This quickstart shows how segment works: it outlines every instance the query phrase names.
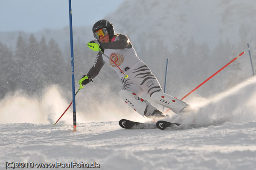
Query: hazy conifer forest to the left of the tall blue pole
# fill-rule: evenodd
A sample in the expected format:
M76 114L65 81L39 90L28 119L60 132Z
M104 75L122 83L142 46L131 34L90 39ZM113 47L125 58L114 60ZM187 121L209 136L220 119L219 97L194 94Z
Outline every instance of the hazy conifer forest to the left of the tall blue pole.
M47 84L61 83L67 75L63 52L54 39L46 42L44 36L38 41L33 34L28 40L20 35L15 51L0 42L0 58L1 99L6 92L17 89L28 94L40 92Z

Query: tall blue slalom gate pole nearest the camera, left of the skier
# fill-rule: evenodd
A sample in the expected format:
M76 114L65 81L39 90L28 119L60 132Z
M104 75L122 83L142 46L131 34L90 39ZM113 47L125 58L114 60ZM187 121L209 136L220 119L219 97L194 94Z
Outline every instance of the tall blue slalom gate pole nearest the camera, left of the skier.
M73 127L74 127L74 132L76 132L76 93L75 93L75 71L74 71L74 51L73 51L73 29L72 29L71 0L69 0L69 15L70 15L71 73L72 73L72 92L73 92Z

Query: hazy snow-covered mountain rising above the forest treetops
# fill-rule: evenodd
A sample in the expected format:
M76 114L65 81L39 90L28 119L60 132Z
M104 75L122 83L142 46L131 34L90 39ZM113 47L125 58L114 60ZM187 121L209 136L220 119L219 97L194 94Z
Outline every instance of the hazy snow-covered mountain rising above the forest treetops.
M248 42L255 46L255 14L254 0L125 0L106 19L113 23L116 32L131 37L137 49L142 44L150 48L159 40L175 49L176 44L186 45L191 39L199 44L207 43L213 49L220 41L227 40L235 44ZM91 40L91 27L74 27L74 41L79 37L85 43ZM2 43L14 47L19 33L27 37L30 34L26 30L0 32ZM69 44L69 26L35 33L38 38L42 35L47 40L53 37L63 48Z

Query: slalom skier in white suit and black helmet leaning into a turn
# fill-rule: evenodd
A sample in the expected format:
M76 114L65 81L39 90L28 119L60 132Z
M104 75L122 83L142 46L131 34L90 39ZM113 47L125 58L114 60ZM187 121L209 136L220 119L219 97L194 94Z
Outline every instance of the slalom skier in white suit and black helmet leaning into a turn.
M88 46L91 49L98 47L101 52L98 52L96 61L87 75L82 76L80 86L93 81L102 66L107 63L121 79L123 86L119 95L140 115L148 118L165 117L150 102L140 98L144 93L150 96L153 103L167 107L175 113L188 106L185 102L163 93L157 78L138 58L130 38L122 34L115 35L113 25L108 20L97 21L93 25L93 35L97 40L90 41Z

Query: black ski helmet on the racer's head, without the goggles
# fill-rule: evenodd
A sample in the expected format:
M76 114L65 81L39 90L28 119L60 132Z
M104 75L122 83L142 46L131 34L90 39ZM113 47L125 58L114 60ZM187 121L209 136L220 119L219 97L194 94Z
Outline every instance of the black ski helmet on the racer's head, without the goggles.
M93 25L93 33L98 31L99 29L106 28L108 31L109 39L112 39L115 35L115 30L111 22L109 20L99 20Z

